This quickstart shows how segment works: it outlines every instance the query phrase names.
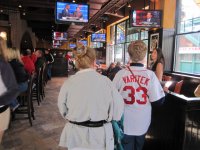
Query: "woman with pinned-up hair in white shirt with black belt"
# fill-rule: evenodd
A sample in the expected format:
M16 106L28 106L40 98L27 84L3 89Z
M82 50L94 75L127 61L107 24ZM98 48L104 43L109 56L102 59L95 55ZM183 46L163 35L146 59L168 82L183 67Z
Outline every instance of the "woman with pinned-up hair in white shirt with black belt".
M113 150L111 120L120 120L124 104L113 83L94 69L95 50L75 50L76 68L61 87L58 107L66 123L60 146L80 150Z

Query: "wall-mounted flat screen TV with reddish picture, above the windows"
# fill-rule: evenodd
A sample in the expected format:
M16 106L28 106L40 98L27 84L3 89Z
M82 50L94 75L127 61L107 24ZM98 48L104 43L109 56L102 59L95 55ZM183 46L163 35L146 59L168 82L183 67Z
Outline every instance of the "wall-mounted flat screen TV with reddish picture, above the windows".
M130 27L161 27L162 12L160 10L132 10Z

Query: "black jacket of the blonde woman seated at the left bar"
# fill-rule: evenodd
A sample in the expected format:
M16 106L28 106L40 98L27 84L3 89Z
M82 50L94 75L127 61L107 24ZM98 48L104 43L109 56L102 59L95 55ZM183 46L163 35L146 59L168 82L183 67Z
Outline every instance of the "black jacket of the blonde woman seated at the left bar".
M28 80L29 75L25 71L24 65L20 63L18 60L13 59L10 62L11 67L13 68L13 71L15 73L15 77L17 80L17 83L22 83Z

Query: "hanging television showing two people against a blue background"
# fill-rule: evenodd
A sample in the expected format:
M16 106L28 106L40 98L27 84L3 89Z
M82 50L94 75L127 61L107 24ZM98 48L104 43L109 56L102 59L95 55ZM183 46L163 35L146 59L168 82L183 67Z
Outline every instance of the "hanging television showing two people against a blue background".
M56 22L88 22L89 5L68 2L56 2Z

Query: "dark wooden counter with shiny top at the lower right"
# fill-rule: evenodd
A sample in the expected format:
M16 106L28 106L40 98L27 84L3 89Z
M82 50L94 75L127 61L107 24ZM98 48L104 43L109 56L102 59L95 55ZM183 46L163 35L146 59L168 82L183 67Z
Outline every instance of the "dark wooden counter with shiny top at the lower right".
M170 92L153 106L144 150L200 150L200 97Z

